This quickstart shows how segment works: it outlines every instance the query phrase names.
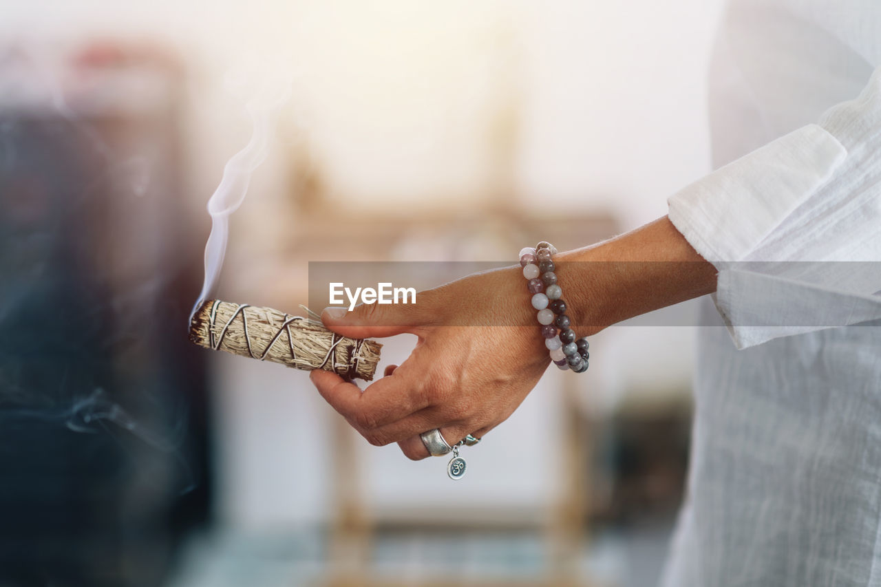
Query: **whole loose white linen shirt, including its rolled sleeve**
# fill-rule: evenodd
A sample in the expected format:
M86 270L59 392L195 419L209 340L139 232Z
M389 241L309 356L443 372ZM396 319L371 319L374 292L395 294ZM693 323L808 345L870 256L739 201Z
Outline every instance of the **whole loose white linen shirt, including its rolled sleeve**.
M669 202L719 270L720 326L700 328L668 587L881 585L879 65L881 0L726 11L724 165Z

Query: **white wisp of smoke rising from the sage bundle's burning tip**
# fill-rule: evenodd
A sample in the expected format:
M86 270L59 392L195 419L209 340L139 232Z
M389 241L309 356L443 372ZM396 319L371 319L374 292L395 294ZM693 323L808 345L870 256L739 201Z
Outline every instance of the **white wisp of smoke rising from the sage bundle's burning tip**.
M254 123L251 140L240 152L226 162L223 178L208 200L211 214L211 234L205 244L205 279L202 292L190 313L190 320L202 303L211 296L220 277L220 268L226 256L229 238L229 216L241 206L248 193L251 174L269 155L272 122L278 109L291 95L291 80L267 78L263 80L255 97L248 101L246 109Z

